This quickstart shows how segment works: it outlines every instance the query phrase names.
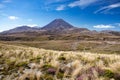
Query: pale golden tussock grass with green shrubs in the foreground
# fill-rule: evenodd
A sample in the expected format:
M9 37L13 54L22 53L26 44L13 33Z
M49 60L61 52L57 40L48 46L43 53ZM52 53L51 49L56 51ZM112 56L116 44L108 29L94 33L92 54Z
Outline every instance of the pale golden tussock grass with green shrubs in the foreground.
M0 43L0 80L120 80L120 55Z

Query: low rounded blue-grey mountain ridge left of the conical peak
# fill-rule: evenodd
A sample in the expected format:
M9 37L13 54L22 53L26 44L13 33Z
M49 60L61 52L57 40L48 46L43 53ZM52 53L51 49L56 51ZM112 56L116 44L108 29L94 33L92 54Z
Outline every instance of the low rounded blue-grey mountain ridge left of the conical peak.
M39 28L29 27L29 26L19 26L14 29L4 31L4 32L2 32L2 34L19 33L19 32L36 31L36 30L39 30Z

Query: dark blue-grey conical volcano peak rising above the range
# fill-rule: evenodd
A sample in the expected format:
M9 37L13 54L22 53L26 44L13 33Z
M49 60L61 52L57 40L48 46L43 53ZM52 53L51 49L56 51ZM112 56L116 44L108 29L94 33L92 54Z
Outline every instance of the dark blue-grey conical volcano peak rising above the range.
M45 30L64 30L64 29L70 29L74 28L71 24L64 21L63 19L55 19L48 25L44 26L42 29Z

